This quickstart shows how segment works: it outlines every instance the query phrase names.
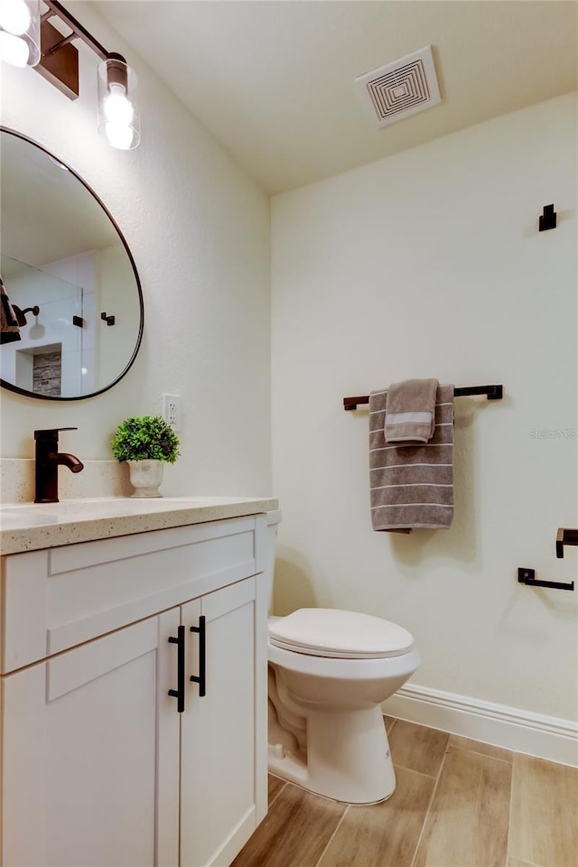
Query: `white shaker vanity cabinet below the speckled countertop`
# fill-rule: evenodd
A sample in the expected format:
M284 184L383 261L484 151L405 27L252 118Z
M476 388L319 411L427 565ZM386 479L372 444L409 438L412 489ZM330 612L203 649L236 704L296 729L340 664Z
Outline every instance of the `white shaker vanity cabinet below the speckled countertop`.
M233 861L266 815L265 533L3 558L3 867Z

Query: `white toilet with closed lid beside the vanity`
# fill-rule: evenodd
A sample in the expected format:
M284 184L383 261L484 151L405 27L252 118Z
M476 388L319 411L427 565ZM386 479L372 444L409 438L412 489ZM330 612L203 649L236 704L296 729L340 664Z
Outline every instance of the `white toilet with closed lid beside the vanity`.
M280 514L269 519L272 591ZM268 633L271 773L349 804L390 797L396 777L380 704L420 664L410 633L368 614L314 608L270 617Z

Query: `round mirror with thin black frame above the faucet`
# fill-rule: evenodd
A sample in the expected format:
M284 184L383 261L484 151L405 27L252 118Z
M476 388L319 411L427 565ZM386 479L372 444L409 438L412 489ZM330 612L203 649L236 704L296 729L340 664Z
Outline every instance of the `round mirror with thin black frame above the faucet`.
M133 256L70 166L0 127L1 384L81 400L125 376L143 335Z

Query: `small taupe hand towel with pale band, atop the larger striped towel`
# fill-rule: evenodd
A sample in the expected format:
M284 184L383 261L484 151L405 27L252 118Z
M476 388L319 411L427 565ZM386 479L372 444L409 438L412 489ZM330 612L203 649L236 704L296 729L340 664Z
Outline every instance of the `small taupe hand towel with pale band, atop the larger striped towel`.
M406 379L387 389L386 442L427 443L435 429L437 379Z

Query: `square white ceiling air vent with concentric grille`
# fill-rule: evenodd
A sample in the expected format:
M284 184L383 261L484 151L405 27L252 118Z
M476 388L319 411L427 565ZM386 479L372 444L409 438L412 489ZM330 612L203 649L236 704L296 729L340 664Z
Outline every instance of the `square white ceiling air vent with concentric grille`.
M431 45L355 79L359 98L378 126L436 106L442 101Z

